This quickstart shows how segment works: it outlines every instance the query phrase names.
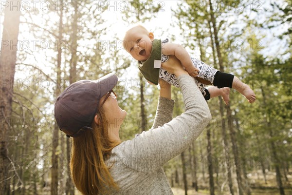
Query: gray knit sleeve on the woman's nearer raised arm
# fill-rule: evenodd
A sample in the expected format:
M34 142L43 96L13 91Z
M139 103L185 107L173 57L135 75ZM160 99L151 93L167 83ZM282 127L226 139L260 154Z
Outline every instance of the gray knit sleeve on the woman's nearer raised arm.
M168 160L182 153L211 120L208 105L194 78L182 75L178 80L183 93L185 112L164 124L163 128L143 132L116 147L115 152L125 159L130 168L146 173L157 170ZM159 115L160 111L157 111L157 114ZM162 123L162 120L154 121L154 127Z

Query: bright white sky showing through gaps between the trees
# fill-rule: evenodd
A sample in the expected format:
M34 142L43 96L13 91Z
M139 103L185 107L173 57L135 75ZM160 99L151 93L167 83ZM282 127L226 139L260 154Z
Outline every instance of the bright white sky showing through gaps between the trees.
M23 0L23 2L30 2L28 0ZM174 35L176 37L175 41L176 43L183 43L183 36L182 36L182 32L183 29L179 29L177 27L173 27L171 26L171 24L174 22L172 20L172 11L171 9L176 9L177 8L177 4L180 0L155 0L154 1L154 6L158 3L162 3L161 5L161 11L158 12L157 17L151 21L146 21L143 23L143 25L149 29L149 31L152 31L154 33L155 37L158 37L160 39L164 39L167 37L170 37L171 35ZM277 0L278 2L281 0ZM7 2L5 0L0 0L0 39L2 39L2 30L3 30L3 2ZM11 1L9 1L11 2ZM40 2L40 1L39 1ZM101 3L105 2L105 1L99 1ZM111 1L111 3L113 2L113 0ZM114 1L116 2L115 5L111 6L109 8L109 10L107 10L105 12L105 16L104 18L107 20L107 22L104 24L106 26L109 26L109 29L107 31L107 33L104 35L104 37L102 37L101 39L104 40L112 40L112 39L119 39L122 40L124 38L125 32L128 30L129 26L128 23L126 23L125 21L123 21L121 19L121 14L123 14L123 9L122 4L118 4L118 2L122 2L120 1ZM128 1L124 1L124 2L128 2ZM263 20L269 20L269 16L267 13L265 13L264 9L268 8L271 9L271 7L269 6L269 2L267 0L258 0L256 2L260 2L261 4L260 7L257 7L259 9L262 9L262 11L258 12L258 15L256 14L251 14L249 15L250 19L255 19L258 21L263 21ZM283 2L283 1L281 1ZM102 5L102 4L101 4ZM129 3L127 4L127 9L131 9L129 6ZM119 11L118 11L119 10ZM25 11L24 11L25 12ZM23 10L22 10L23 13ZM46 12L45 12L46 13ZM46 15L44 14L44 17L50 18L51 20L56 20L58 21L58 17L56 16L55 18L52 17L51 15ZM21 19L23 20L23 19ZM38 23L39 25L42 24L42 18L40 17L34 17L33 22ZM85 19L86 20L86 19ZM240 20L238 18L230 18L229 20ZM88 25L95 25L95 24L88 24ZM284 30L288 29L289 26L281 26L281 27L276 27L273 29L254 29L254 32L258 35L264 35L265 37L260 37L258 39L260 39L262 46L265 47L264 50L261 50L260 52L269 58L275 58L275 57L283 57L281 56L281 53L283 53L283 51L286 49L284 47L284 44L286 43L285 40L279 40L276 38L277 35L281 34ZM51 30L51 29L50 29ZM226 32L226 34L228 34ZM117 38L116 38L117 37ZM20 25L20 29L19 29L19 36L18 39L20 41L25 41L25 40L34 40L34 35L32 35L29 31L29 29L25 28L25 25ZM48 38L49 39L49 38ZM37 40L38 43L44 40ZM82 42L83 44L87 45L90 43L87 43L83 40L79 40L80 42ZM247 42L245 42L247 43ZM1 44L1 42L0 42ZM248 44L246 44L248 45ZM25 44L22 44L21 47L24 47ZM33 47L31 45L31 47ZM51 47L53 47L51 45ZM123 48L118 48L118 49L123 49ZM199 51L188 51L192 56L195 56L198 58ZM19 52L18 52L19 53ZM54 60L56 58L56 52L52 53L52 50L40 50L36 52L33 50L33 48L30 48L30 50L27 51L28 54L32 54L32 55L27 55L27 59L25 60L26 63L28 64L33 64L36 65L37 67L39 67L40 69L42 69L46 74L50 74L50 73L54 73L54 68L55 68L55 64L54 64ZM125 57L128 57L129 59L132 59L132 57L126 52L126 51L122 51L122 54L125 55ZM291 55L291 54L288 54ZM47 59L46 56L51 56L51 58L53 59ZM50 58L50 57L49 57ZM19 61L19 59L18 59ZM130 78L137 78L137 74L138 74L138 68L135 66L136 65L136 61L133 59L132 60L133 65L129 66L126 71L124 72L124 74L119 78L119 79L130 79ZM48 65L49 63L49 65ZM83 62L79 62L79 63L83 63ZM212 66L212 64L210 64ZM64 66L64 63L62 63L62 66ZM21 70L16 72L15 74L15 79L19 79L24 80L24 79L28 79L30 80L31 77L35 77L35 76L31 76L30 73L28 73L28 71L26 70L27 67L23 67L21 68ZM37 77L37 76L36 76ZM43 87L46 86L47 82L42 82L39 83L41 84ZM138 82L137 82L138 83ZM136 83L136 84L137 84ZM24 83L25 84L25 83ZM50 83L50 87L55 87L55 83ZM138 84L137 84L138 85ZM50 88L50 89L51 89ZM133 90L131 90L133 91ZM50 90L50 92L52 92L52 90ZM133 92L134 93L134 92ZM53 93L51 93L52 96L50 96L50 98L54 99ZM47 114L49 113L53 113L53 109L54 109L54 105L50 105L50 103L48 102L46 105L47 109L46 112Z

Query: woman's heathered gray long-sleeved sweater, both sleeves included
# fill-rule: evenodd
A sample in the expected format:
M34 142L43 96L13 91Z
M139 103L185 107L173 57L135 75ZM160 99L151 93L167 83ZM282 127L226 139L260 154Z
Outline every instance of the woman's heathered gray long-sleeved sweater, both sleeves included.
M183 93L185 112L172 119L174 101L159 98L153 127L132 140L116 146L106 161L119 191L108 189L110 195L172 195L163 171L164 164L182 153L196 139L211 113L194 78L178 78Z

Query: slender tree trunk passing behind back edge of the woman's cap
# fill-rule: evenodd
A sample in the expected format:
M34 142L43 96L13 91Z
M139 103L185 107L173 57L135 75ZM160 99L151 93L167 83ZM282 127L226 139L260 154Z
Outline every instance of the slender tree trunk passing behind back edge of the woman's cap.
M62 1L60 2L62 4ZM62 48L61 48L61 40L63 33L63 11L60 11L60 19L59 19L59 36L58 36L58 55L57 55L57 79L56 79L56 89L55 89L55 97L57 97L61 90L61 58L62 58ZM52 168L51 168L51 194L58 194L58 155L56 154L56 150L58 147L59 140L59 128L57 126L54 127L53 132L53 143L52 143Z

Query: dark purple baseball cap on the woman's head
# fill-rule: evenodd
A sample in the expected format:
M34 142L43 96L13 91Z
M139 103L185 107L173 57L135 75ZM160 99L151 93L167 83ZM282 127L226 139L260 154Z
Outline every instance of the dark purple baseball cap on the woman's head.
M67 87L56 99L55 119L67 137L78 137L91 128L100 98L118 82L110 73L98 80L79 80Z

